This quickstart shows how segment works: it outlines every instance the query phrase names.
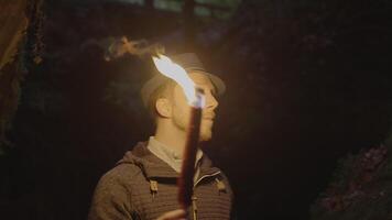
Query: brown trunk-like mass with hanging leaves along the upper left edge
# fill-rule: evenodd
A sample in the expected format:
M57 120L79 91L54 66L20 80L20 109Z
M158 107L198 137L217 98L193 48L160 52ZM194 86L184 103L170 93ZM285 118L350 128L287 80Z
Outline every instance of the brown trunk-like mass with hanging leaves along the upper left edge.
M6 21L0 37L0 148L10 145L6 132L18 109L20 85L29 64L41 62L42 0L2 2L0 18ZM30 21L30 26L28 26ZM25 37L25 34L28 37Z

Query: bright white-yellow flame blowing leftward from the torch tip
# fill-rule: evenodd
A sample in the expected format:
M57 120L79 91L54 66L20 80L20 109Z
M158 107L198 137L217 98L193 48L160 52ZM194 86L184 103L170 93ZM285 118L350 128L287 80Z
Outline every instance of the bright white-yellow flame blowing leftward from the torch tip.
M196 85L190 79L186 70L178 64L172 62L165 55L157 54L152 57L156 69L164 76L176 81L184 90L185 97L188 103L193 107L203 108L205 106L205 99L203 95L196 92Z

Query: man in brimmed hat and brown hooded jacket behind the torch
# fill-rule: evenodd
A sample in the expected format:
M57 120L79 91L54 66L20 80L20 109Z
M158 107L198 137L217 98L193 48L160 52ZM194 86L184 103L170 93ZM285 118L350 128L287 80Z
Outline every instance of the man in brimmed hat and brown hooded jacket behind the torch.
M216 95L225 84L207 73L195 54L172 58L204 89L200 141L213 136ZM139 143L98 183L89 220L115 219L229 219L232 191L222 172L198 150L195 164L193 205L179 209L176 180L182 165L190 108L182 88L156 74L142 88L144 106L156 130L146 143Z

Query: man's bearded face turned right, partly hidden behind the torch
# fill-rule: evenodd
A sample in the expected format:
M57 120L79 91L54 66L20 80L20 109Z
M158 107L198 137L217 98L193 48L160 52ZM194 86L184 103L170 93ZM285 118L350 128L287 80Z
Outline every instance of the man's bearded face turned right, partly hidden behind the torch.
M218 101L215 99L215 87L207 76L200 73L190 73L189 77L194 82L204 90L206 106L203 109L200 124L200 141L208 141L213 138L213 124L215 118L215 109L218 107ZM190 107L186 100L183 89L176 85L173 91L172 100L172 122L175 127L186 131L189 122Z

